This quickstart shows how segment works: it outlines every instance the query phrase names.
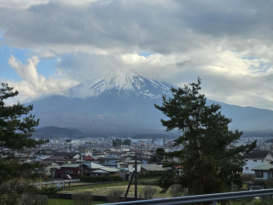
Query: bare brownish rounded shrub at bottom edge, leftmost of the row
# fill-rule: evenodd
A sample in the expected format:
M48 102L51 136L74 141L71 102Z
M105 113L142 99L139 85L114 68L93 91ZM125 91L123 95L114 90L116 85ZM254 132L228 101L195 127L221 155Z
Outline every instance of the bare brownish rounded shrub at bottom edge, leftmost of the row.
M46 205L48 197L42 194L23 194L18 199L18 205Z

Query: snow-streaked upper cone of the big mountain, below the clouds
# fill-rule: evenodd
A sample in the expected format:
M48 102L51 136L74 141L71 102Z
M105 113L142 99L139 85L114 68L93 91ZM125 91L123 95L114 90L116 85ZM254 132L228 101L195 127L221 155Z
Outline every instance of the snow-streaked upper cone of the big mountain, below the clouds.
M143 96L145 100L171 94L170 88L178 86L151 80L133 71L102 73L85 83L70 88L72 98L97 98L99 95L116 94L129 98Z

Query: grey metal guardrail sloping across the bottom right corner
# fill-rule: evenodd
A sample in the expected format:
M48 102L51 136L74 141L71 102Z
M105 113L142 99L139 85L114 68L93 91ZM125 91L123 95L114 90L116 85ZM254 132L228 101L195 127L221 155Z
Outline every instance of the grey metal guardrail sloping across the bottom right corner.
M219 194L206 194L206 195L195 195L186 197L173 197L173 198L161 198L161 199L150 199L141 201L127 201L118 203L107 203L101 205L176 205L176 204L190 204L205 201L213 201L216 205L216 201L227 200L227 199L238 199L238 198L248 198L248 197L260 197L273 195L273 189L261 189L254 191L241 191L241 192L227 192Z

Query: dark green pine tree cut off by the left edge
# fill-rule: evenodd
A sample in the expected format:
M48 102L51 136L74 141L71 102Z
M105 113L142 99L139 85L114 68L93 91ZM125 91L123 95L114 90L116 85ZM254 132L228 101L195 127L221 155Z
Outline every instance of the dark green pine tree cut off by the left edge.
M33 109L32 105L25 107L17 102L12 106L6 106L4 100L18 95L13 92L13 87L1 83L0 88L0 148L22 150L22 148L35 147L38 142L29 138L34 132L34 127L39 124L32 115L21 119L21 116L28 115Z

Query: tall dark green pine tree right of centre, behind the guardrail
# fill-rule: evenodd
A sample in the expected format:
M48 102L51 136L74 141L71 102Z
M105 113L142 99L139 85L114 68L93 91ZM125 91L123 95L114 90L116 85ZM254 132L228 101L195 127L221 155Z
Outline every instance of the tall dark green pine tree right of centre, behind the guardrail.
M179 172L170 171L162 175L160 182L163 191L172 184L188 188L189 195L212 194L229 191L231 182L240 183L244 160L242 153L256 147L231 145L242 132L228 129L232 119L221 114L218 104L206 105L206 97L200 93L201 80L190 86L174 89L173 98L162 96L162 106L155 107L169 119L161 119L167 131L176 129L181 135L174 140L174 146L181 145L180 151L168 153L177 157L179 163L165 166L179 167Z

